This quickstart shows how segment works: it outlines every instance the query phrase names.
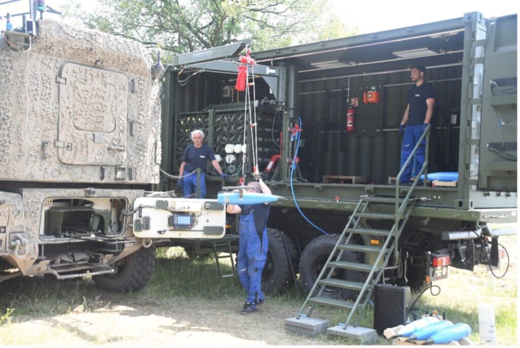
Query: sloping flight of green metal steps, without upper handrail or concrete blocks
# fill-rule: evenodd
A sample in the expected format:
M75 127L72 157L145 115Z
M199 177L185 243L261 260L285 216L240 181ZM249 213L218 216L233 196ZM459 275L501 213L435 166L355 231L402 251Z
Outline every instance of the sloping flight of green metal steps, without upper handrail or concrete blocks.
M349 323L353 323L353 326L359 324L359 320L369 303L374 286L381 279L383 271L395 269L397 267L396 265L388 265L393 252L397 255L395 240L399 238L400 233L404 229L404 226L410 217L412 208L419 200L418 198L410 197L410 194L411 190L405 198L398 198L397 200L395 197L361 197L334 249L332 250L329 259L316 279L316 283L302 305L296 319L299 319L302 315L309 317L316 308L316 305L326 305L339 307L349 311L348 317L344 324L342 324L345 329ZM374 210L378 210L373 209L374 207L386 205L388 208L389 204L395 205L396 209L394 214L374 212ZM363 226L362 219L394 220L394 225L391 230L376 230ZM381 246L363 246L354 244L352 242L355 240L353 237L356 234L379 239L383 237L384 243L382 243ZM339 252L337 253L337 256L335 256L337 251ZM344 252L363 252L366 256L375 253L377 254L377 257L372 265L347 262L342 260ZM394 260L397 260L397 258ZM365 283L361 283L332 278L331 276L336 268L366 273L366 281ZM327 269L329 269L329 271L327 271ZM325 287L350 289L358 292L358 294L355 301L332 299L322 295Z

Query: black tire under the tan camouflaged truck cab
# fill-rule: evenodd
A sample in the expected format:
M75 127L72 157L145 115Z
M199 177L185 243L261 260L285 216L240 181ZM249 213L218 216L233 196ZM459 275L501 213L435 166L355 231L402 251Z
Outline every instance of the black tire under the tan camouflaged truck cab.
M140 248L116 262L114 274L95 275L96 286L113 292L138 291L142 289L155 268L155 245ZM112 265L114 267L114 265Z

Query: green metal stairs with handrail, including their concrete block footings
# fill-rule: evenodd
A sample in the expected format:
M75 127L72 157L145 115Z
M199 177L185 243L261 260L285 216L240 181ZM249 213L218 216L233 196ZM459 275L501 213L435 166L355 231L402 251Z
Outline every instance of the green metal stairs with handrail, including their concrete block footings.
M328 328L327 332L331 330L331 334L345 336L347 327L352 322L352 327L355 328L352 334L355 337L361 338L363 335L365 335L368 331L371 330L359 328L357 326L363 315L363 312L365 312L367 304L370 301L372 291L375 285L378 284L379 280L381 279L383 272L385 270L392 270L398 267L397 260L399 259L399 236L410 217L410 213L412 212L413 207L419 200L426 200L426 198L418 198L411 196L413 190L415 189L415 186L417 186L420 180L415 180L410 186L410 188L408 190L405 190L405 197L400 197L401 191L399 189L399 185L400 179L405 169L409 165L411 165L411 160L415 156L415 153L417 153L420 146L425 144L426 149L424 163L417 175L417 178L421 178L421 176L424 174L424 178L426 178L426 180L423 180L422 184L426 186L428 174L428 148L430 143L430 132L431 126L428 125L425 131L422 133L419 140L417 141L417 144L415 144L415 147L408 156L406 162L401 166L401 170L399 171L396 178L394 196L360 196L361 199L359 200L356 208L354 209L352 216L350 216L350 218L348 219L348 222L345 228L343 229L340 238L337 240L336 245L334 246L329 258L327 259L327 262L325 263L323 269L318 275L316 282L313 285L313 288L310 290L307 299L305 300L304 304L300 309L300 312L296 317L286 319L286 327L296 327L296 329L291 330L294 332L298 332L297 328L298 326L302 327L302 324L297 322L301 322L301 317L305 316L308 320L306 320L307 323L303 326L305 330L307 330L304 330L304 332L310 332L311 334L320 332L322 328L328 325L328 323L330 322L328 320L311 320L310 315L313 313L317 305L327 305L332 307L340 307L342 309L348 310L349 312L345 320L345 323L342 323L338 326L341 327L341 329L338 329L337 327ZM388 211L391 211L392 206L394 206L393 214L388 213ZM375 230L370 228L370 226L363 225L364 221L366 222L367 220L394 220L394 225L390 230ZM353 239L354 235L369 236L370 240L377 240L378 238L384 239L384 243L382 243L381 246L358 245L355 243L351 243L355 241L355 239ZM337 251L339 252L336 256ZM370 256L371 254L373 256L373 254L375 253L377 256L372 264L361 264L343 261L342 256L344 252L363 252L366 256ZM393 258L392 255L394 256ZM388 263L390 260L393 260L393 263L395 264L389 265ZM365 280L365 283L332 278L332 274L334 274L334 270L336 268L366 273L367 278ZM327 271L327 269L329 269L329 271ZM323 289L325 289L326 287L353 290L357 292L356 300L344 301L324 296ZM372 333L375 334L375 331L372 331ZM299 330L299 332L302 332L302 330Z

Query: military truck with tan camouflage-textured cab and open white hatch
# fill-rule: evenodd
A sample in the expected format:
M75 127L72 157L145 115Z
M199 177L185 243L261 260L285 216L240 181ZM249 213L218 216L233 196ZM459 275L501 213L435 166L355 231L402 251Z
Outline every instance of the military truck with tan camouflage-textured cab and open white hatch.
M149 191L164 68L143 45L28 20L2 35L0 67L0 282L92 276L138 290L155 243L224 235L216 200Z

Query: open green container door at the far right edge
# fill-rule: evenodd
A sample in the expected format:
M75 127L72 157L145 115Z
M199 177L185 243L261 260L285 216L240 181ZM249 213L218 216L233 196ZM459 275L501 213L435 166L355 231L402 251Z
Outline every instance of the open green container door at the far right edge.
M487 23L478 187L516 191L517 16Z

